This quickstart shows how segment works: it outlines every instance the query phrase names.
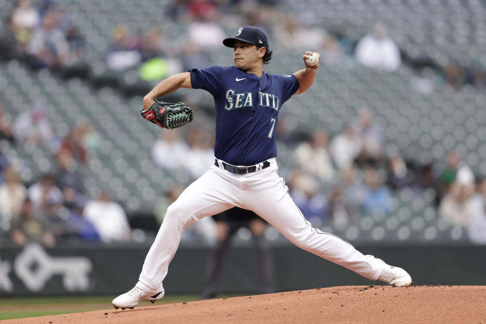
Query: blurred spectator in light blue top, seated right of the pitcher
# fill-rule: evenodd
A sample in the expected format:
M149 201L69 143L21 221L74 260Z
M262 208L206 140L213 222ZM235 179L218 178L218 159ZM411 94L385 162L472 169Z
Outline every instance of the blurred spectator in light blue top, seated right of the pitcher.
M361 209L366 215L382 214L391 212L391 194L380 179L375 169L365 171L365 191Z

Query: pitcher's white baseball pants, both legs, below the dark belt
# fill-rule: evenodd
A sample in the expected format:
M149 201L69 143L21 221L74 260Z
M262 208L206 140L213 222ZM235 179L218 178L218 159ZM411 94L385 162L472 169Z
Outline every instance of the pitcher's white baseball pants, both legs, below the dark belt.
M244 175L213 165L189 185L167 209L136 286L150 293L163 291L162 281L186 225L233 206L254 211L299 248L369 279L378 279L384 263L363 255L335 235L313 228L289 195L284 179L278 176L275 158L268 161L270 167Z

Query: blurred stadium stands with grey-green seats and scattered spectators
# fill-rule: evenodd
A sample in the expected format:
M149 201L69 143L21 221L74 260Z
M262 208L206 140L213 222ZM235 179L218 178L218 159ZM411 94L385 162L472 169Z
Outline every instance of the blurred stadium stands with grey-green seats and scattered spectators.
M408 34L406 1L401 20L378 10L382 21L335 1L321 16L297 11L310 0L135 3L0 0L2 244L153 239L214 161L214 105L174 94L194 123L159 132L138 116L141 96L173 73L231 65L222 39L241 25L269 35L267 72L300 69L306 50L322 56L277 128L280 174L315 227L350 241L486 244L486 29L472 17L484 4L422 4L439 30ZM282 239L271 227L266 237ZM214 240L211 218L183 236Z

